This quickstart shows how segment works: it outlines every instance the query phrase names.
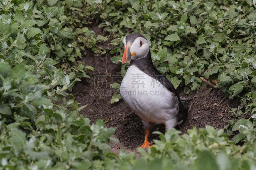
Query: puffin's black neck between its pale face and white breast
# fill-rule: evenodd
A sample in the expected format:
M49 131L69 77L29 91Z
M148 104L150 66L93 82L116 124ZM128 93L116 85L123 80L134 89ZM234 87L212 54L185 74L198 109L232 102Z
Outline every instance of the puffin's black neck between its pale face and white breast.
M153 72L158 72L158 70L156 69L152 62L150 50L148 51L148 54L145 57L140 58L138 60L131 60L129 67L132 65L138 67L138 69L140 69L144 73L147 73L148 75L153 74Z

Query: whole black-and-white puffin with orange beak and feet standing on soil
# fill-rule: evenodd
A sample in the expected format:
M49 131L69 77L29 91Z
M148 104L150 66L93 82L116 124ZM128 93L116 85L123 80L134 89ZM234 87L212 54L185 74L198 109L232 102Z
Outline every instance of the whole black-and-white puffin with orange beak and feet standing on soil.
M122 64L130 65L122 80L120 94L125 103L143 122L146 131L140 148L152 147L149 131L155 124L163 123L165 130L180 125L188 116L190 98L182 98L172 83L154 66L147 39L133 33L124 37Z

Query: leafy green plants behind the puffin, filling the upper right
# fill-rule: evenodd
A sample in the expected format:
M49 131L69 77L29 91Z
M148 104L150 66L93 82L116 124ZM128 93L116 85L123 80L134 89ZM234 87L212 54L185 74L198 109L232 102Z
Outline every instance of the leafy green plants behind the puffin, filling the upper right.
M231 99L243 90L255 92L255 4L251 1L87 2L88 15L100 17L100 27L114 34L111 54L122 56L126 32L143 34L157 69L167 74L175 88L185 85L185 94L200 87L202 76L217 79L217 87ZM111 60L120 63L120 59ZM126 69L127 64L121 72ZM239 96L242 108L253 113L248 95Z

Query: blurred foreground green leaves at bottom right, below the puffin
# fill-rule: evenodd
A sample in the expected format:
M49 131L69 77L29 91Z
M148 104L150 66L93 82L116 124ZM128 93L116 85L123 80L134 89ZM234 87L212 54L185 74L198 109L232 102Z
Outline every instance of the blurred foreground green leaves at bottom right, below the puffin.
M255 121L244 129L244 145L230 141L223 129L206 126L194 127L188 134L170 129L159 134L154 147L146 153L138 148L143 157L136 160L134 153L120 151L119 159L111 162L115 169L250 169L255 167ZM241 154L243 153L243 154ZM106 163L106 166L108 167Z

